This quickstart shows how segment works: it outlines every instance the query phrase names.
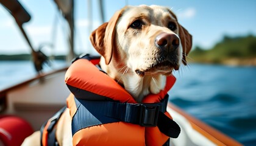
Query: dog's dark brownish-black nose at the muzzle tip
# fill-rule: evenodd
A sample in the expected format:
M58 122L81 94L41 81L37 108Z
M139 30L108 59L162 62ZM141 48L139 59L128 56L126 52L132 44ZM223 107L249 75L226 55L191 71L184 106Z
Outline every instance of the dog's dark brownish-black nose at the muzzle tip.
M174 33L160 33L155 38L155 44L163 49L175 50L179 47L180 40L179 37Z

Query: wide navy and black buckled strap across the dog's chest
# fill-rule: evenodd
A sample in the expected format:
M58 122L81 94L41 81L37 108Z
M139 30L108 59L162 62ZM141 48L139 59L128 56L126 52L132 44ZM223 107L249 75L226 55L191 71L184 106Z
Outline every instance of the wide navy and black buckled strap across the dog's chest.
M159 130L169 137L177 137L180 133L179 125L164 114L168 103L168 94L160 103L144 104L74 99L77 111L72 120L73 135L82 128L119 121L143 127L158 126L161 127ZM168 119L167 122L163 122L166 119ZM166 130L166 128L169 129Z

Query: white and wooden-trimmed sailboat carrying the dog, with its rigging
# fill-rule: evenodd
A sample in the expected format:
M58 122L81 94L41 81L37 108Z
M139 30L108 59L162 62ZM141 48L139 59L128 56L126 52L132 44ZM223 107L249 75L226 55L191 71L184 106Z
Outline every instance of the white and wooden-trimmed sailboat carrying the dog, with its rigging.
M62 1L55 2L58 4ZM70 2L69 4L74 5L72 3L74 1ZM20 8L19 16L24 19L18 20L17 24L21 32L23 32L27 43L30 44L29 38L27 38L26 32L22 28L22 24L29 21L29 14L17 0L0 0L0 3L6 4L7 7L16 5L16 7ZM59 9L62 8L59 7ZM15 18L16 14L12 13L12 15ZM74 21L73 10L69 11L65 16L69 21L71 28L70 35L72 36L74 27L72 23L72 21ZM72 37L70 42L70 51L73 52L72 46L74 41ZM43 61L37 60L38 52L34 50L31 44L29 46L32 49L33 57L35 57L35 68L37 68L39 73L29 80L0 91L0 145L21 145L24 138L32 134L32 132L40 130L41 125L43 125L46 120L52 117L63 106L66 106L66 97L70 94L64 81L67 68L65 67L47 73L41 72L42 63L46 61L44 55ZM39 56L42 56L40 52ZM74 57L73 53L71 57ZM36 63L38 61L40 62L39 65ZM167 111L181 127L180 136L177 139L171 139L170 145L242 145L235 141L235 139L232 139L201 120L185 113L185 111L170 102L168 103ZM8 119L12 117L18 119L16 120L16 124L12 123L6 125ZM19 123L17 121L22 122ZM24 131L20 133L20 125L27 127L27 130L24 130L28 131L26 134L24 134Z

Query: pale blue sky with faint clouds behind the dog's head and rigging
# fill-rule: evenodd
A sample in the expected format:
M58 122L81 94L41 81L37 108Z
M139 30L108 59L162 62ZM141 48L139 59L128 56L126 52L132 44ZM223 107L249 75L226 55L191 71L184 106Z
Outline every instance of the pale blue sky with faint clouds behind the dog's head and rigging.
M53 0L20 0L32 19L24 24L32 45L44 45L46 54L66 54L68 27ZM75 51L93 53L90 32L102 24L98 1L75 0ZM125 0L104 1L105 21L125 5L164 5L176 13L179 23L193 35L193 47L210 49L224 35L256 35L256 1L254 0ZM88 7L88 5L90 5ZM91 18L88 10L91 9ZM90 23L89 23L90 22ZM92 28L92 29L90 29ZM49 45L51 44L51 45ZM29 46L15 24L15 20L0 5L0 54L29 53Z

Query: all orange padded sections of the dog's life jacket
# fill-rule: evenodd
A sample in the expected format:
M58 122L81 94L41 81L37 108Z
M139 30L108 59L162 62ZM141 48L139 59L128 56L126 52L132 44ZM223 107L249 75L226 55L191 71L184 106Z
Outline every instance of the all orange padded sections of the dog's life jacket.
M67 99L71 117L76 114L77 106L75 98L85 100L93 99L90 95L98 94L105 97L103 100L115 100L121 103L137 103L133 97L112 78L99 71L89 60L80 59L75 61L65 75L68 88L74 94ZM167 77L165 89L158 94L150 94L144 97L144 103L158 103L163 100L174 85L176 78ZM84 95L81 92L86 93ZM89 94L88 94L89 93ZM89 97L86 97L89 95ZM97 97L96 97L97 98ZM171 116L165 112L165 115ZM90 119L88 119L90 120ZM82 128L73 135L73 145L163 145L169 137L161 133L158 127L141 127L140 125L127 122L113 122L102 125L94 125Z

